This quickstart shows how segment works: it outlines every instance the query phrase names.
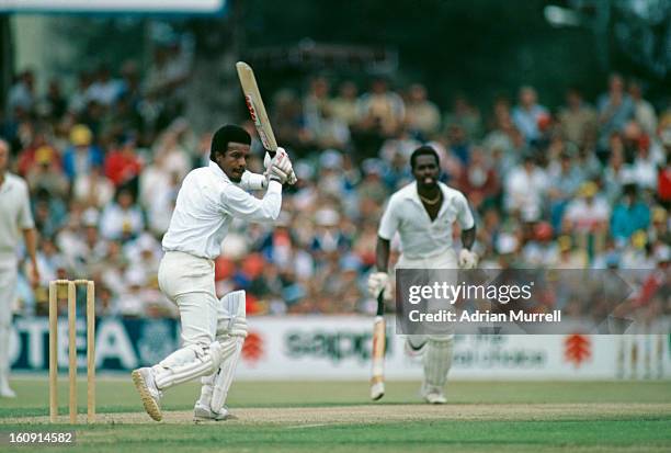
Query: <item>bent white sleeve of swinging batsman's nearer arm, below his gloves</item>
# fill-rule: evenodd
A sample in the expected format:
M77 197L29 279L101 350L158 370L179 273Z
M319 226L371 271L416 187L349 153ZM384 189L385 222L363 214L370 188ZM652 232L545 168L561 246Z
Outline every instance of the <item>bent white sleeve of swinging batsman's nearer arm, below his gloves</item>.
M276 220L282 208L282 184L271 181L263 199L229 184L221 193L223 208L230 215L250 222Z

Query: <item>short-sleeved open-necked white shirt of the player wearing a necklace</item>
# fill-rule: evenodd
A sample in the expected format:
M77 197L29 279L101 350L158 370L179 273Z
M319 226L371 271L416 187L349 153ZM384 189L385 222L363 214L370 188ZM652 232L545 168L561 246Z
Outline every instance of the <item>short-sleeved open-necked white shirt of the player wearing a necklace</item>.
M389 199L379 222L377 235L387 240L398 231L403 257L422 259L445 253L452 248L452 224L458 222L463 229L475 225L466 196L455 189L439 182L443 192L443 204L432 222L412 182Z

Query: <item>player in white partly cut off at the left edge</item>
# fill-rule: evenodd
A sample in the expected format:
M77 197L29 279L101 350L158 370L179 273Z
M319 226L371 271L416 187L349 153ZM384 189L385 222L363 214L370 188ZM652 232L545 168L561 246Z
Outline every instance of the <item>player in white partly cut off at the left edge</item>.
M16 251L20 236L31 260L30 280L39 282L35 248L37 237L31 214L31 200L24 180L8 171L9 145L0 138L0 397L16 395L9 385L9 339L12 327L12 305L16 297Z

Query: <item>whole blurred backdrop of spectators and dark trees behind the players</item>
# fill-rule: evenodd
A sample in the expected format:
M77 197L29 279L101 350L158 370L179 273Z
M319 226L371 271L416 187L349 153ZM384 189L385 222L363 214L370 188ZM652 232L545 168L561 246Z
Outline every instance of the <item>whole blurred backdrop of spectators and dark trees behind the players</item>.
M276 225L237 222L223 246L217 292L247 290L248 313L374 312L378 222L421 144L468 197L481 267L616 269L671 312L668 2L220 3L0 13L0 137L39 236L16 313L90 278L99 315L177 315L157 269L180 183L219 125L255 136L238 59L299 179ZM254 139L249 169L262 159Z

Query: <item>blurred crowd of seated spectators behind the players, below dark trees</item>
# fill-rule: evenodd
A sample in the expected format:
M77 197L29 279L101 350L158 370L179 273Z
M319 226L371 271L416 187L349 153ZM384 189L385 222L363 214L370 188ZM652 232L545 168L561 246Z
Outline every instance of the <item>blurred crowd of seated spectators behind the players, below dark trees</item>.
M157 285L160 240L211 137L183 116L189 65L167 46L146 75L132 61L118 73L101 66L69 93L56 79L38 92L36 76L16 76L0 116L39 236L42 282L33 290L22 272L19 313L46 312L50 280L89 278L99 315L175 316ZM382 209L428 143L443 181L470 202L482 267L637 270L640 297L670 309L660 274L671 256L671 109L640 82L612 75L594 103L569 88L557 110L523 86L484 113L464 94L439 106L419 83L332 82L317 76L304 92L269 95L298 183L276 225L231 226L216 262L220 295L247 290L252 314L369 313ZM249 168L262 172L253 149Z

